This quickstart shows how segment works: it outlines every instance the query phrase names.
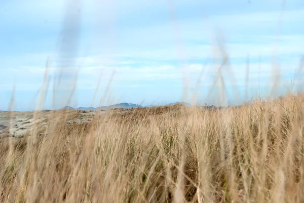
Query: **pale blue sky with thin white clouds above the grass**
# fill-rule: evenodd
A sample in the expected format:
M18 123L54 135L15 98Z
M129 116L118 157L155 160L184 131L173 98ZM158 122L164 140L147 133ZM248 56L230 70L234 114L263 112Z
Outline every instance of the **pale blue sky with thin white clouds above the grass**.
M4 0L0 19L0 110L239 104L302 85L302 0Z

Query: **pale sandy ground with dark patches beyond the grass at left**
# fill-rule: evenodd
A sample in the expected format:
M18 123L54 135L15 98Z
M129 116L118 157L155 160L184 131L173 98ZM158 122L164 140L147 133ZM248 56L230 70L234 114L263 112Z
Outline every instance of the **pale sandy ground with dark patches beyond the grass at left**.
M8 112L0 111L0 138L4 137L20 137L26 134L34 127L43 128L48 124L54 111L40 112ZM72 123L89 123L92 121L95 111L72 111L69 113L66 121L67 124ZM104 111L99 112L103 114ZM52 119L54 119L52 117Z

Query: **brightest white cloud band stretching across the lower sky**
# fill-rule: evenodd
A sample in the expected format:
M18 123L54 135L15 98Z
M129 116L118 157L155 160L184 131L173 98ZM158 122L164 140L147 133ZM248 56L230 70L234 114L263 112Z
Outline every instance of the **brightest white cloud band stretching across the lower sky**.
M290 69L290 66L296 64L283 63L281 64L281 77L283 80L290 79L293 77L294 70ZM229 69L230 68L230 69ZM58 74L61 68L51 67L49 69L49 74L54 78L54 75ZM65 68L65 73L70 73L71 77L69 80L63 78L64 84L70 84L72 87L74 83L73 78L76 72L75 68ZM101 87L106 87L111 74L115 70L113 76L113 86L130 86L130 87L140 87L144 85L150 85L151 82L161 82L167 81L168 84L173 84L172 82L181 82L183 77L187 77L188 86L197 86L197 81L201 77L201 82L199 86L210 86L213 84L214 78L218 71L218 65L212 64L200 64L192 63L183 70L178 65L155 65L155 66L85 66L82 67L78 72L77 88L78 89L96 89L97 82L101 76ZM74 71L74 72L73 72ZM37 90L43 84L43 77L45 74L45 68L34 67L34 66L24 66L21 68L10 69L7 72L8 75L14 75L17 90ZM186 75L183 75L186 73ZM246 78L246 63L232 64L232 66L224 66L222 68L222 75L224 77L225 83L227 85L244 85ZM254 86L258 83L265 84L272 78L274 73L272 71L271 63L250 63L249 68L249 86ZM7 76L6 76L7 77ZM36 78L36 79L33 79ZM1 90L12 90L12 78L1 79ZM66 81L65 81L66 80ZM39 83L40 82L40 83ZM53 82L51 82L53 83ZM52 85L50 86L52 88Z

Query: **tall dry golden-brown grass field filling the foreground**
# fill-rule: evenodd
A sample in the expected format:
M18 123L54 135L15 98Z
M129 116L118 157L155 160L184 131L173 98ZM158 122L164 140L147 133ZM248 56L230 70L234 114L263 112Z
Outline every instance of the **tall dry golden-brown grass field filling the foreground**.
M2 132L0 201L304 202L303 107L34 112Z

